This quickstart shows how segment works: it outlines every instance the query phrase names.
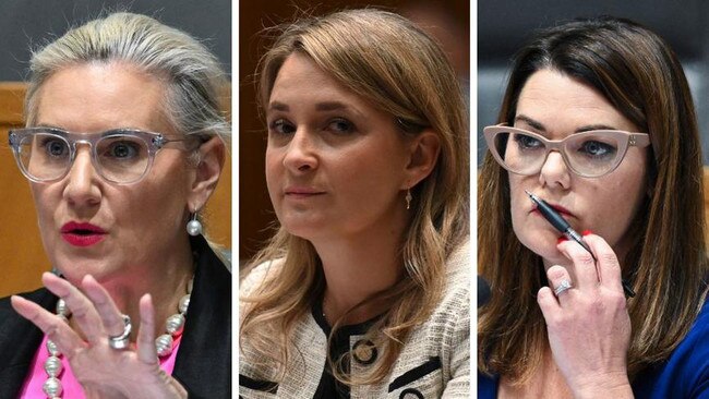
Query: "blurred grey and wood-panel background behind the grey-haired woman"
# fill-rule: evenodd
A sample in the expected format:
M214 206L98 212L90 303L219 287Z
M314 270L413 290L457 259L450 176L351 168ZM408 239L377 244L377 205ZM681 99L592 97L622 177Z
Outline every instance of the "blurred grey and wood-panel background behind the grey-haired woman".
M23 99L29 50L61 36L70 26L123 10L151 15L202 40L231 70L230 0L2 0L0 1L0 297L41 286L47 259L29 184L17 170L8 146L8 130L23 124ZM230 87L224 110L230 112ZM216 243L231 247L231 160L217 192L205 209L207 232Z

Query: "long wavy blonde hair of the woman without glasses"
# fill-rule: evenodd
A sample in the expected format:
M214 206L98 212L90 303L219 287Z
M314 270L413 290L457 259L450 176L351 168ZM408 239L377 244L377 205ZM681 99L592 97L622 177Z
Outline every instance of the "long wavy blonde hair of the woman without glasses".
M388 375L409 331L430 315L444 285L445 262L468 237L467 107L440 46L412 22L390 12L349 10L279 27L259 68L262 110L280 66L292 53L309 57L352 92L390 113L401 134L431 129L441 142L435 168L412 189L413 211L399 249L406 277L359 304L373 300L392 303L366 334L381 355L368 374L357 379L340 367L349 354L328 359L340 382L375 384ZM313 245L283 227L251 267L272 259L283 259L283 265L272 268L266 283L241 298L245 305L240 342L248 341L257 354L274 361L283 378L293 354L293 328L321 299L325 281ZM338 326L339 322L335 323L333 330Z

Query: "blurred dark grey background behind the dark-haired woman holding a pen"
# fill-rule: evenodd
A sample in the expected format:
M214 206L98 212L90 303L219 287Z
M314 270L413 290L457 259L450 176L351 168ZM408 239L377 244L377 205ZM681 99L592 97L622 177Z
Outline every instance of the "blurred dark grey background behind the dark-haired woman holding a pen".
M709 160L709 2L700 0L478 1L478 165L485 152L482 128L497 120L509 61L540 27L579 16L634 20L670 43L685 69L697 107L705 165Z

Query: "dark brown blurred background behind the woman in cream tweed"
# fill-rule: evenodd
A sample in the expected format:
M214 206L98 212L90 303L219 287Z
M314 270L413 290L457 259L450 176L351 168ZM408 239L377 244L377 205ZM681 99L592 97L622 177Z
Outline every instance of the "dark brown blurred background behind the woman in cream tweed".
M375 7L402 14L426 29L442 44L469 92L470 9L468 1L373 2L319 1L240 1L239 4L239 259L251 257L273 234L275 214L271 206L264 174L266 150L265 123L256 107L254 72L269 41L262 32L295 16L321 15L341 9Z

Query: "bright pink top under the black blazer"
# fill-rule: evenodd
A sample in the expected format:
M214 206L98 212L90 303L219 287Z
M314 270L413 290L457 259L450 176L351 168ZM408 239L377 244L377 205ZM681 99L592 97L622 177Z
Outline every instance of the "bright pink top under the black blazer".
M177 358L177 352L180 348L180 341L182 341L182 335L180 334L173 339L172 353L167 358L160 359L160 368L169 375L172 375L172 370L175 368L175 359ZM45 336L39 344L39 349L32 360L29 375L25 379L25 384L22 386L22 390L20 391L21 399L47 399L47 396L41 390L41 386L48 378L47 373L45 372L45 361L47 358L49 358L49 351L47 350L47 336ZM59 359L61 359L61 365L64 370L59 375L62 386L62 395L60 397L84 399L84 390L81 385L79 385L79 382L76 382L74 374L71 372L67 358L60 356Z

